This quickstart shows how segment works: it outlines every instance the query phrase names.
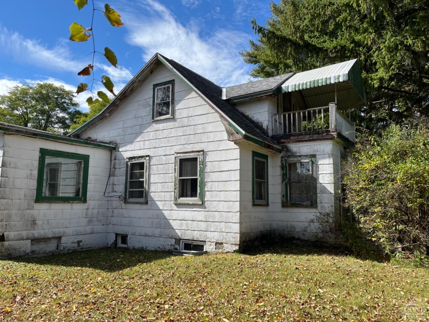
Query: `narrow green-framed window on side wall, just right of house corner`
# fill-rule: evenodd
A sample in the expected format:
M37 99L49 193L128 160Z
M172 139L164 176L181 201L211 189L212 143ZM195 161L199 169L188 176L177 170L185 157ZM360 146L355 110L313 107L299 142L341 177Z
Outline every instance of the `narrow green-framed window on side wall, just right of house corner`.
M268 206L268 155L252 152L252 204Z

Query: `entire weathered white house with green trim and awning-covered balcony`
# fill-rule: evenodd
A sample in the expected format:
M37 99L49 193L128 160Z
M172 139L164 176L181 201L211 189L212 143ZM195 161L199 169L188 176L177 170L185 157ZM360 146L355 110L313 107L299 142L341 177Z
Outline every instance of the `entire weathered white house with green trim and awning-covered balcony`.
M314 240L364 103L356 60L222 88L155 54L68 136L0 124L0 257Z

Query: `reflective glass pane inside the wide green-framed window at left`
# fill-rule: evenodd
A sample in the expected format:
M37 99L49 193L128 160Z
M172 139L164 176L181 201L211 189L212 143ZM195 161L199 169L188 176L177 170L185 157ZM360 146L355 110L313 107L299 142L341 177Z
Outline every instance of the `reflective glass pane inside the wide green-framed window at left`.
M44 197L82 197L84 161L47 155L43 178Z

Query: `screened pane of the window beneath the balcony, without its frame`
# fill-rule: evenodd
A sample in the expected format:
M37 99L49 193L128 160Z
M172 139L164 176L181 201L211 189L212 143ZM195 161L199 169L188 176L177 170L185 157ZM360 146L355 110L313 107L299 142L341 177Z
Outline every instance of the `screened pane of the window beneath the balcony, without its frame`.
M290 202L311 201L310 167L310 161L287 164Z

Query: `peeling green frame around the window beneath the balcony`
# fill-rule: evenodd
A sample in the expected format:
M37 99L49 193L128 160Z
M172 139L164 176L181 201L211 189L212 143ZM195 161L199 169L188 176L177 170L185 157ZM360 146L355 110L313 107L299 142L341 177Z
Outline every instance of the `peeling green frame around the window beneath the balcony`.
M288 164L297 162L310 162L311 171L311 201L289 201ZM281 158L281 207L317 207L317 171L316 155L300 155Z

